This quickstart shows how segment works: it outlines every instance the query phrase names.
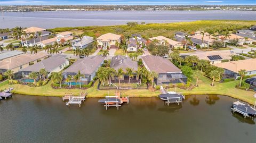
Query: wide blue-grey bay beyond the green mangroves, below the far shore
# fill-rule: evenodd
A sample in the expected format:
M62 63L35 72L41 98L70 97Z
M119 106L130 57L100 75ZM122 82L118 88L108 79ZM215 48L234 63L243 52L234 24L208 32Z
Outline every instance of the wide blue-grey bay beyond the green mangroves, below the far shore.
M195 20L256 20L256 11L45 11L10 12L0 28L113 26L130 21L170 23Z

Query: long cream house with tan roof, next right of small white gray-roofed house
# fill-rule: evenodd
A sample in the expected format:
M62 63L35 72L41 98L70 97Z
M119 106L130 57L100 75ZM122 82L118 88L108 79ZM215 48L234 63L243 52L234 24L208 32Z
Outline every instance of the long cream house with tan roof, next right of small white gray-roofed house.
M157 41L157 45L169 45L170 48L183 48L183 44L178 42L178 41L174 41L172 39L166 38L164 36L157 36L157 37L152 37L149 38L150 41Z

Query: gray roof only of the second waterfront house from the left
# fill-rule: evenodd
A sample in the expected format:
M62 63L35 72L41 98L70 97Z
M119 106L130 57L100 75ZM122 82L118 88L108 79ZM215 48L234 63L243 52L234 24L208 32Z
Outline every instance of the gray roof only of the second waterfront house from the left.
M66 62L66 55L57 54L49 58L46 58L41 62L30 65L27 68L21 69L20 71L39 72L39 70L45 69L46 71L50 72L55 68L58 68L60 65L62 65L65 62Z

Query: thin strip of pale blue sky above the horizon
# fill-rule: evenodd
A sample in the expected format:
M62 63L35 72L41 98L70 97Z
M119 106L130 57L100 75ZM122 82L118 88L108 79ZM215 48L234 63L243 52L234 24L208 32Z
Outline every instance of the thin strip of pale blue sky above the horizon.
M0 5L256 5L256 0L0 0Z

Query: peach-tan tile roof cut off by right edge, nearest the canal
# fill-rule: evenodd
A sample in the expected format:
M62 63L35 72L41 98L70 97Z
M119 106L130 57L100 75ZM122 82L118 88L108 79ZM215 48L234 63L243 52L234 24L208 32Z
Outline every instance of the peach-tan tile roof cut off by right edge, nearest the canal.
M227 69L238 73L239 70L256 71L256 58L250 58L247 60L230 61L225 63L213 64L219 68Z

